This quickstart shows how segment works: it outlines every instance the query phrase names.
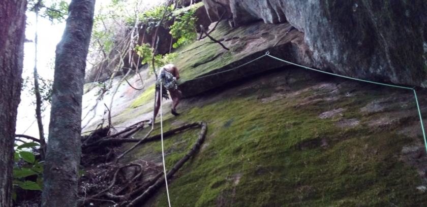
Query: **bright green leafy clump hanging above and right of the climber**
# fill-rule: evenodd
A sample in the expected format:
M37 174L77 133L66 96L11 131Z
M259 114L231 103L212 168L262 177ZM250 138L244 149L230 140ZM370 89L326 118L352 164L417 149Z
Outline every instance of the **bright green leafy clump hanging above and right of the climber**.
M196 32L196 10L190 9L186 11L181 17L176 16L175 23L170 27L170 33L173 38L177 38L178 41L173 44L173 48L178 48L181 45L186 45L197 37Z

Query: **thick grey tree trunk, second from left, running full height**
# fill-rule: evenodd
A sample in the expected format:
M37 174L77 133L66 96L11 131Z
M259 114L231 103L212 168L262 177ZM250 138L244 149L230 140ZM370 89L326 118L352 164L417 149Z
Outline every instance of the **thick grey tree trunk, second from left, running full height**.
M84 70L95 0L72 0L63 38L56 46L43 207L77 206Z

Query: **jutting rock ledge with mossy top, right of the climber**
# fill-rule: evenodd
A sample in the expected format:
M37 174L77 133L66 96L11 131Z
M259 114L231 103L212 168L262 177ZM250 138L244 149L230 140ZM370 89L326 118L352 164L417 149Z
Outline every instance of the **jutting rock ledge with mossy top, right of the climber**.
M226 22L220 22L211 33L212 37L217 40L240 38L222 42L229 51L206 38L181 52L175 64L180 70L178 86L182 94L184 97L194 96L229 82L289 65L268 56L246 64L267 51L278 58L312 66L311 54L303 42L303 33L293 30L284 37L290 27L289 23L272 25L256 22L231 28Z

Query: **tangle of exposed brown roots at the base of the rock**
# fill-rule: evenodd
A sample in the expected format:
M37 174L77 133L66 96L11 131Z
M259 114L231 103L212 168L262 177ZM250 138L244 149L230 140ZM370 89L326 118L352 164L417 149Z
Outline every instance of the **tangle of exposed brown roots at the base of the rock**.
M135 127L143 122L134 124L132 127ZM179 168L182 167L182 165L184 165L185 162L188 161L198 149L200 149L200 146L205 139L207 124L204 122L187 124L163 133L164 137L168 137L175 134L176 132L184 131L195 126L201 126L201 132L198 136L196 143L193 145L191 150L170 169L166 176L167 179L171 179L172 176L179 170ZM145 135L143 139L137 140L114 138L120 135L121 137L128 137L142 127L143 124L142 126L136 128L128 128L124 130L125 132L121 131L119 133L109 136L106 136L106 133L109 130L108 128L97 129L92 134L86 136L83 139L85 141L88 141L86 147L83 148L83 154L89 153L87 155L84 155L89 157L98 156L98 158L102 159L96 160L98 161L98 163L102 163L102 160L104 159L106 161L113 160L111 156L114 157L114 155L110 154L114 154L114 149L118 149L114 148L115 146L118 146L122 143L136 143L132 148L130 148L120 156L117 156L117 158L115 159L117 161L119 158L123 157L128 152L135 149L136 146L142 143L157 141L161 139L161 134L148 137L152 129ZM92 136L92 138L90 140L87 140L90 136ZM113 148L109 149L110 147ZM154 168L150 167L148 162L146 162L146 166L144 165L144 167L143 165L137 163L128 163L125 165L118 166L113 162L95 165L95 163L92 163L92 160L94 160L93 157L90 157L89 160L89 163L85 164L82 157L82 164L86 166L85 169L87 168L89 175L82 177L83 180L80 184L81 187L79 193L81 198L79 204L80 206L93 206L94 203L96 203L95 205L98 205L102 202L107 201L116 203L117 206L140 206L150 196L154 195L159 190L159 188L161 188L165 183L164 172L160 171L160 169L156 169L159 167L158 165L152 165L154 166ZM85 161L87 161L87 159L85 159ZM137 167L138 169L135 169L133 172L132 170L126 170L125 173L123 170L129 167ZM149 170L149 172L147 172L147 170ZM151 177L150 180L143 180L142 175L144 174L144 177L146 177L144 172L147 172L149 173L148 175L151 175L148 176ZM155 174L153 174L153 172L155 172Z

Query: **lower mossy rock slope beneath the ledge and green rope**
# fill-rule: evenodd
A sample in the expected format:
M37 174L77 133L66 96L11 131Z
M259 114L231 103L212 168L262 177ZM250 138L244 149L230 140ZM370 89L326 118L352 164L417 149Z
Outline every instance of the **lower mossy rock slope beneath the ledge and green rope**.
M201 150L169 182L172 205L427 204L427 194L417 189L425 185L420 172L427 168L411 164L427 161L425 152L409 159L403 153L406 147L422 147L419 132L402 133L413 126L421 130L417 114L408 113L416 110L411 91L294 67L224 88L184 100L178 107L181 116L165 113L165 131L185 123L208 123ZM419 99L425 107L424 95ZM364 112L377 102L384 108ZM336 109L345 111L332 113ZM330 117L320 116L330 111ZM368 124L378 117L394 121ZM347 120L356 122L339 124ZM160 133L160 124L156 126L153 134ZM191 129L164 141L167 168L188 152L198 133ZM161 164L160 142L138 147L124 162L137 160ZM167 206L165 192L161 189L149 205Z

